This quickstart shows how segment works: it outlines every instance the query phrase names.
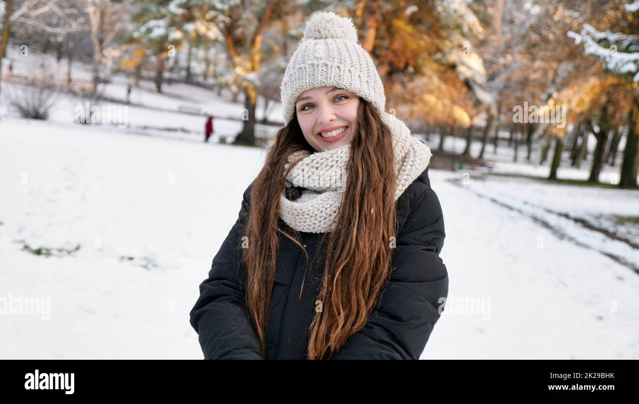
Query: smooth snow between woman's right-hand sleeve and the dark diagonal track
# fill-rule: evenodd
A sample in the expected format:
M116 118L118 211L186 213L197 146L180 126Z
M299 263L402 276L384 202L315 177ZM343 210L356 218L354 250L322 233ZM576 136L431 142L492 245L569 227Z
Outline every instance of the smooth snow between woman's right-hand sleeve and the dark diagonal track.
M422 358L639 357L638 275L482 198L472 192L479 181L463 178L431 172L450 290ZM574 192L578 199L580 188Z

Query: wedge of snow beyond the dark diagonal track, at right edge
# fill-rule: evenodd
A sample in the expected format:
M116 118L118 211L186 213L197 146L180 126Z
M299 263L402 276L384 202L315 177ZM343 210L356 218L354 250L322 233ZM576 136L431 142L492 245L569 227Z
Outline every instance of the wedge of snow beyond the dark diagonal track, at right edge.
M462 183L472 192L494 199L554 229L560 237L578 240L603 254L618 258L639 274L639 222L636 222L639 191L576 188L554 183L549 187L528 178L473 173L468 173L468 179ZM593 217L599 220L590 220ZM635 217L635 222L619 226L615 218L620 217Z

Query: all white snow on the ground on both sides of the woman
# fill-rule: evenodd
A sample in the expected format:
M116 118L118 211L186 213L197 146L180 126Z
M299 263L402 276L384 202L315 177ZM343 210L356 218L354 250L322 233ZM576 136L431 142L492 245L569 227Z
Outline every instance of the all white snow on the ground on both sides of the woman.
M0 120L0 299L50 298L1 318L0 357L201 359L189 311L265 152L67 122ZM422 358L639 359L639 275L543 210L635 194L430 174L450 290Z

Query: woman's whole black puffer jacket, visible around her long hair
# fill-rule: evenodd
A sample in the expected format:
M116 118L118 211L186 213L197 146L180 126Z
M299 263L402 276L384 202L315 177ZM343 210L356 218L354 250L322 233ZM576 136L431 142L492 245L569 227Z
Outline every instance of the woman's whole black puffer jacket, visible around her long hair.
M323 272L321 235L300 232L309 263L316 249L321 249L307 270L302 299L298 297L304 253L288 238L280 238L282 254L275 271L264 358L244 306L241 285L245 278L238 253L250 209L251 185L244 192L238 220L213 258L208 279L199 286L200 296L190 312L190 323L199 334L204 359L305 359ZM396 270L366 327L351 336L334 359L419 359L440 318L440 298L448 295L448 274L439 257L445 233L442 208L430 187L428 168L404 190L396 210L399 232L392 254ZM281 219L280 224L288 228Z

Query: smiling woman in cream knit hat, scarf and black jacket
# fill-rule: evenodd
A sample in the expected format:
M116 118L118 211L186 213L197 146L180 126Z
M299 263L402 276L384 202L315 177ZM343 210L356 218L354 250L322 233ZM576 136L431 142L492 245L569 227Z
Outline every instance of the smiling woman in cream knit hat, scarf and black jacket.
M448 293L430 149L384 111L334 13L307 23L281 95L285 126L190 313L204 357L419 359Z

